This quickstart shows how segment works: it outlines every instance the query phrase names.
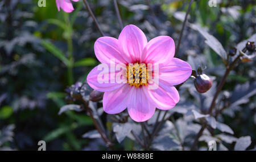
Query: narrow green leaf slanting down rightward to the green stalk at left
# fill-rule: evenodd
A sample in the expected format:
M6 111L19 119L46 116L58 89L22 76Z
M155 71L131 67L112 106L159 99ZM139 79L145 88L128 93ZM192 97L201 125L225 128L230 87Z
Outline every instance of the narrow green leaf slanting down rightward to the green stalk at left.
M59 58L60 61L62 61L66 66L69 66L69 60L65 57L63 52L61 52L60 49L58 49L55 45L53 45L51 42L42 40L41 41L44 48L46 48L51 54L53 54L55 57Z

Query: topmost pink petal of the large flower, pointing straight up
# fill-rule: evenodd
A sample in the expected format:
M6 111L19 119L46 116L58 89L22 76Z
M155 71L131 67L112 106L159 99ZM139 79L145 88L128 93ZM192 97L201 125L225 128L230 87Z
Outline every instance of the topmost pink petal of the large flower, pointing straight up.
M141 60L147 38L135 25L127 25L118 37L118 44L122 55L129 59L129 63L135 63Z

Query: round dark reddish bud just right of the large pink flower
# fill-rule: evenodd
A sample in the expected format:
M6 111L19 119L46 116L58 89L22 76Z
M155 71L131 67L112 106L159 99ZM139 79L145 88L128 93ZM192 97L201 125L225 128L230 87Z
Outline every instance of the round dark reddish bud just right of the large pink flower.
M205 93L212 87L212 80L205 74L198 75L194 80L197 92Z

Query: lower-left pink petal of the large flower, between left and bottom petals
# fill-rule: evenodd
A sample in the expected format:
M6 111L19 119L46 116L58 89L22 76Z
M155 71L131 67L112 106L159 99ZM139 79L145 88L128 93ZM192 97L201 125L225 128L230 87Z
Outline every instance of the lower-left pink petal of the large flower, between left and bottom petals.
M127 108L133 95L131 86L125 84L123 87L111 92L105 92L103 96L103 109L108 114L121 113Z

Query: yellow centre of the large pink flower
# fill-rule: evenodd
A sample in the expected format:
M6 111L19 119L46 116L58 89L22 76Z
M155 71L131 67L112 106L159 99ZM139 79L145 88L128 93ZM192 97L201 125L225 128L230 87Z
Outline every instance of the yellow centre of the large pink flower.
M130 86L139 88L147 86L147 67L144 63L127 65L127 81Z

